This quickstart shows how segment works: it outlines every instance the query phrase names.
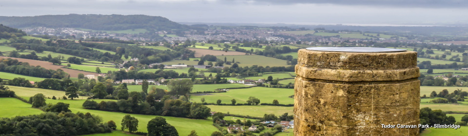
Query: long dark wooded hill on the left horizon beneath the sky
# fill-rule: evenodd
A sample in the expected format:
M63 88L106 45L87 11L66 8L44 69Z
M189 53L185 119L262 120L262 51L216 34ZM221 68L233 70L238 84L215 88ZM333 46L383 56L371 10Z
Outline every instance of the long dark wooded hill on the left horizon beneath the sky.
M0 17L0 23L14 28L84 28L92 30L192 29L165 17L146 15L44 15L34 17Z

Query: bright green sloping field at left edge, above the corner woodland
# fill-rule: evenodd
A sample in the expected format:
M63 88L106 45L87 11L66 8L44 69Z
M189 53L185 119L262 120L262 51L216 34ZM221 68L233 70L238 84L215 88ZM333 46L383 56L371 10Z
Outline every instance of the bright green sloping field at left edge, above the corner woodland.
M32 108L31 104L22 102L16 98L0 98L0 103L0 118L28 116L42 113L40 109Z

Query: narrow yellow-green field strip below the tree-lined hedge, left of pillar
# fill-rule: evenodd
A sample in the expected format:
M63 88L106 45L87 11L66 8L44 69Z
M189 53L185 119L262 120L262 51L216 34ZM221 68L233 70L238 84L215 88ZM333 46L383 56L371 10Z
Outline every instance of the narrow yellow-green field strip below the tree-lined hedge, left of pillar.
M274 114L280 116L284 113L288 115L293 114L293 107L283 106L219 106L219 105L206 105L211 108L211 111L235 114L235 115L248 115L252 117L263 117L264 114Z

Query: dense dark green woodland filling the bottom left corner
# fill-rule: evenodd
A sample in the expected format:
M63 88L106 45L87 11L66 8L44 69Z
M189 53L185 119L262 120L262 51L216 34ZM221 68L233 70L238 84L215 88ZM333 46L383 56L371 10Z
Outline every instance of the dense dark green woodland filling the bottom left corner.
M39 115L0 118L0 135L6 136L77 136L110 133L101 118L87 113L42 113ZM13 125L17 124L17 125Z

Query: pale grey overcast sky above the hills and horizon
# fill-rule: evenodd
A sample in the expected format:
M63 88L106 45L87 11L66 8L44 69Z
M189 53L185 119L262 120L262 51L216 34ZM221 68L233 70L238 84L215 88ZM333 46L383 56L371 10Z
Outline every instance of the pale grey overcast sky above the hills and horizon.
M150 15L176 22L407 24L467 22L468 0L1 0L0 16Z

